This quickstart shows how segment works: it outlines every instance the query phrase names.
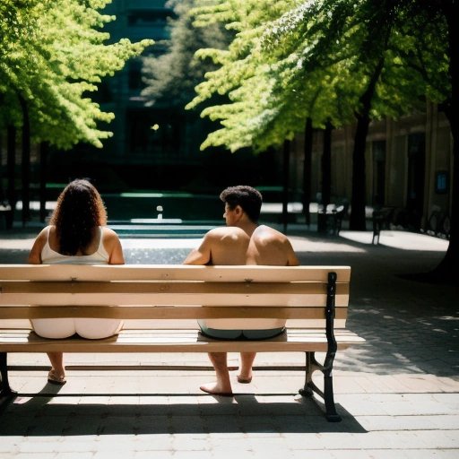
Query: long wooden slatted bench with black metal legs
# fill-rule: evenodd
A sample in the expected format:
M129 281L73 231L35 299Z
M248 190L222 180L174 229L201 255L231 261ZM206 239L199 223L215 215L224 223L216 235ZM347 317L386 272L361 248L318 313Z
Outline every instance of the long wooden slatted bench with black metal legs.
M319 394L326 418L333 401L336 351L364 340L345 328L348 266L31 265L0 264L1 394L11 399L8 352L306 352L304 396ZM119 335L102 340L40 338L29 319L112 317ZM219 341L198 318L285 318L286 332L261 341ZM319 364L315 352L325 352ZM324 374L324 389L312 373Z

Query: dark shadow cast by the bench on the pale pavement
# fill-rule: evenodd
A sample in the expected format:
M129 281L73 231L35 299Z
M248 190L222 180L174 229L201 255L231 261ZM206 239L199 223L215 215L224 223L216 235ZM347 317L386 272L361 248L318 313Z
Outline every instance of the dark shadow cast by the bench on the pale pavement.
M22 394L24 396L24 394ZM100 395L97 395L98 397ZM316 403L259 403L253 395L237 395L223 403L177 403L178 395L169 395L169 403L152 403L155 394L132 396L133 404L124 404L126 395L110 396L109 404L91 403L91 394L59 396L35 395L26 403L8 405L0 417L0 435L5 436L82 436L208 433L366 433L357 420L337 405L341 422L327 422ZM189 395L188 395L189 396ZM278 399L279 394L275 397ZM143 402L143 398L145 402ZM160 398L164 400L164 395ZM73 399L69 403L69 399ZM52 403L49 403L51 402ZM197 403L196 403L197 401Z

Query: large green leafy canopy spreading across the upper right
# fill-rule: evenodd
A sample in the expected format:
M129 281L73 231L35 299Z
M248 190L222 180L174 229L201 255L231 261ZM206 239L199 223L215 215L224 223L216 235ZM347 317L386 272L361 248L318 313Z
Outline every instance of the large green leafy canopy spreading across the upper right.
M374 75L372 119L420 107L425 94L441 100L446 62L437 52L435 34L441 37L444 24L420 14L415 21L407 3L204 2L193 12L195 26L223 22L236 35L226 50L197 53L211 57L219 68L205 74L187 107L195 108L215 93L230 98L230 103L204 108L202 116L219 120L222 127L202 148L264 150L301 131L306 117L315 126L349 124L362 109L362 95ZM417 46L420 30L426 32L422 48Z

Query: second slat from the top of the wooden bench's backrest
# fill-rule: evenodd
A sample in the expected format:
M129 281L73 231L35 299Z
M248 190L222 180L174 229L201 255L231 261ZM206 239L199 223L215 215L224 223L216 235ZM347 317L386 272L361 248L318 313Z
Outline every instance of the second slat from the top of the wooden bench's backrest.
M195 305L325 306L322 283L234 282L1 282L0 306ZM349 284L336 286L336 307L349 302Z

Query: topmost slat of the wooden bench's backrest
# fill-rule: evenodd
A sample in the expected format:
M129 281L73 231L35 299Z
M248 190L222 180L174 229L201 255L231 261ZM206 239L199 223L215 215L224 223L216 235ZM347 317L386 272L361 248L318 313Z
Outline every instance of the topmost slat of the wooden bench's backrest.
M195 266L177 264L0 264L0 279L26 281L351 281L350 266Z

